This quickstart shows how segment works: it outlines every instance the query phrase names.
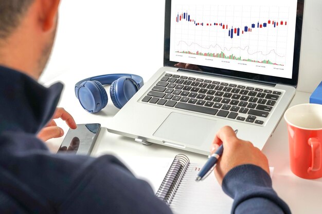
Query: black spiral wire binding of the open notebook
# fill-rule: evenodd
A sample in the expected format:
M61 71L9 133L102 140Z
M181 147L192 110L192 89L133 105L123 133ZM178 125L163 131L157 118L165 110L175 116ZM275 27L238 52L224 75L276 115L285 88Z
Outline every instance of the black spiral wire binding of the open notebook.
M190 164L188 157L184 154L177 154L168 170L166 177L162 181L156 192L156 197L165 201L168 206L175 195L177 188L180 186L182 178Z

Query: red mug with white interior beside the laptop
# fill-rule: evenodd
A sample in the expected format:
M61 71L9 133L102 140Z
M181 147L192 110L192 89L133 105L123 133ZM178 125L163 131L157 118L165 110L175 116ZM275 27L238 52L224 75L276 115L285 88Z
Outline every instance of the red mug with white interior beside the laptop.
M304 179L322 177L322 105L300 104L284 113L288 125L290 166Z

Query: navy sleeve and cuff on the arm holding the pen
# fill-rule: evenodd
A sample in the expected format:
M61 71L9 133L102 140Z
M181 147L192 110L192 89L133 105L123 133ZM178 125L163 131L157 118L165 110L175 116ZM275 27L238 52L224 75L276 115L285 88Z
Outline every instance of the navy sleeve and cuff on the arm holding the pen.
M274 191L269 174L256 165L231 169L223 179L222 188L234 199L231 214L291 213L289 206Z

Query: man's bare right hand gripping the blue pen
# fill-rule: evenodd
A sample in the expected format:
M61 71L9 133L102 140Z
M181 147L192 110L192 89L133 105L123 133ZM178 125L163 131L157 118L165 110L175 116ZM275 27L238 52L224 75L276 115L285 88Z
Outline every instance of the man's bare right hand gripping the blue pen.
M214 174L220 185L230 169L243 164L257 165L270 174L266 156L251 142L238 139L231 127L225 126L217 132L211 153L214 153L221 144L223 144L224 151L214 168Z

